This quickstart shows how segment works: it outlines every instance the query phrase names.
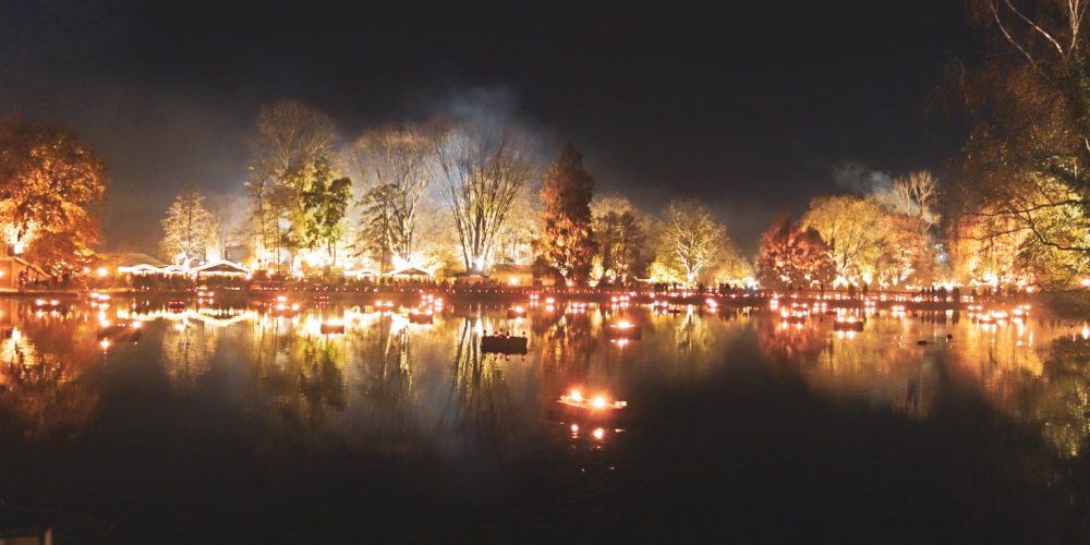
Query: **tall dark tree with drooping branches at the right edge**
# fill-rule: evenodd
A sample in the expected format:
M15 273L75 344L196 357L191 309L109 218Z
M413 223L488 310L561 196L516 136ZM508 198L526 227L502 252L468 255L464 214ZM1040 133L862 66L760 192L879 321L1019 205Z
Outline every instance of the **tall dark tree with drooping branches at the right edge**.
M976 0L992 55L971 66L958 98L976 124L965 147L966 216L984 237L1027 238L1019 256L1046 277L1071 276L1090 254L1090 66L1082 23L1090 2ZM972 245L972 244L969 244ZM1063 254L1071 254L1063 257ZM1056 270L1052 267L1067 268Z

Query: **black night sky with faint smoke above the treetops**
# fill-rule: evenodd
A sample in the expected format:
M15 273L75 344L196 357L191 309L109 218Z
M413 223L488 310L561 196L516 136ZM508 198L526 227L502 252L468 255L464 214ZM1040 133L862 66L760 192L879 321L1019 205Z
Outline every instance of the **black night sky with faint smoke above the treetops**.
M240 191L256 111L287 97L346 136L513 104L601 192L706 199L747 251L776 210L840 191L838 164L942 170L961 138L928 113L971 57L960 0L375 4L0 0L0 111L87 140L111 170L107 247L148 250L182 184Z

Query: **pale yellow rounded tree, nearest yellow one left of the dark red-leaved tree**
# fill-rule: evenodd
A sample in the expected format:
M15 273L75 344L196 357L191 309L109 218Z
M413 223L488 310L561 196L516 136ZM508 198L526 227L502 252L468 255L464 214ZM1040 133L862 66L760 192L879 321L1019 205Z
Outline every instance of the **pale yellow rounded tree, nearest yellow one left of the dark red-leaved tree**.
M673 264L690 282L719 257L727 229L697 199L674 199L663 211L659 261Z

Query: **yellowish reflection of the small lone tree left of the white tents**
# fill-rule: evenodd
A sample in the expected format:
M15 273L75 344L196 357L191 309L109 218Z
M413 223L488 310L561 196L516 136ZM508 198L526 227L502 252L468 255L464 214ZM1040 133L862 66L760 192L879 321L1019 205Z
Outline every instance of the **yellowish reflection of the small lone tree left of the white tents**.
M196 391L197 382L208 373L217 340L217 328L202 322L179 322L167 327L162 335L162 365L175 390Z

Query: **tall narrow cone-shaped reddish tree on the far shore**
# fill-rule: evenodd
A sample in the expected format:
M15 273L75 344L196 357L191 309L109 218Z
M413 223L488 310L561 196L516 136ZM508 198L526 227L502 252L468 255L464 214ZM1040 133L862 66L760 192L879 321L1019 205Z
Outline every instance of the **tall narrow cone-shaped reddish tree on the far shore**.
M583 156L571 144L560 148L545 172L542 186L540 258L565 280L583 282L594 257L591 197L594 178L583 168Z

